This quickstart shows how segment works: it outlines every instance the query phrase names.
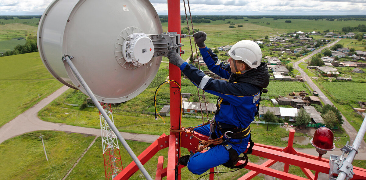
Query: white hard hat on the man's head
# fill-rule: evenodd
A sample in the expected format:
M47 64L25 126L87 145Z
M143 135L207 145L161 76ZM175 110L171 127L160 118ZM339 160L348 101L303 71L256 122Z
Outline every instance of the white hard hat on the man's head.
M244 61L249 67L256 68L261 64L262 50L258 44L250 40L242 40L229 50L232 59Z

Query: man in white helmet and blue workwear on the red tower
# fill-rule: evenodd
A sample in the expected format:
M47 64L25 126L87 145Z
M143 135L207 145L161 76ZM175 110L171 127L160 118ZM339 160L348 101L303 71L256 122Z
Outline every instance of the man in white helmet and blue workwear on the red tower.
M179 158L179 164L186 165L193 174L200 175L228 162L235 153L234 156L238 157L247 149L250 123L258 111L261 91L269 84L269 73L266 63L261 63L262 51L253 41L243 40L232 46L229 64L225 64L205 45L205 32L194 33L194 39L209 70L228 81L210 78L173 51L168 52L169 63L178 66L203 91L219 96L219 111L215 119L217 125L212 134L220 137L227 131L233 132L227 133L230 139L222 145L211 147L205 153L191 153ZM195 128L196 132L206 136L209 136L209 130L209 125Z

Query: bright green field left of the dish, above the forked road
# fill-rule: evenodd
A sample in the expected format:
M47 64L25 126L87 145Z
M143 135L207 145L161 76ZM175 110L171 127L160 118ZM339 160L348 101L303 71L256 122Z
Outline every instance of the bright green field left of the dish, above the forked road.
M0 57L0 66L0 126L62 86L37 52Z

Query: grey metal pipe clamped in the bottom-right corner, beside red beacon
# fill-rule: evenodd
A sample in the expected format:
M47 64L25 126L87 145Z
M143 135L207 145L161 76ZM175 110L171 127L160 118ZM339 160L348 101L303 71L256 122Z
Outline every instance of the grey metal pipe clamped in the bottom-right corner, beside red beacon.
M358 153L357 150L361 145L363 136L365 136L365 132L366 132L366 117L365 117L365 119L363 119L361 127L358 130L355 141L352 144L352 150L348 153L347 158L345 160L346 162L349 162L352 164L353 160L355 159L356 154ZM342 166L346 166L346 165L347 165L347 163L343 163ZM346 177L347 177L347 174L345 172L341 171L337 177L337 180L344 180L344 179L346 179Z

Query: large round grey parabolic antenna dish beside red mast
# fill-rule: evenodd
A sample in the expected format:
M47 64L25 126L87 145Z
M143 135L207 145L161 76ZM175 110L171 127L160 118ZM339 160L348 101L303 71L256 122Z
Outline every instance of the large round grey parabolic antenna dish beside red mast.
M133 33L163 33L148 0L55 0L42 15L37 44L46 68L61 83L86 94L61 60L64 55L73 56L72 62L98 101L119 103L146 89L162 59L152 57L153 45L146 36L128 37ZM130 52L131 44L142 52ZM132 59L124 58L123 46Z

